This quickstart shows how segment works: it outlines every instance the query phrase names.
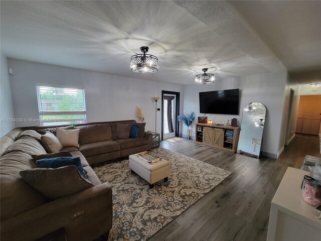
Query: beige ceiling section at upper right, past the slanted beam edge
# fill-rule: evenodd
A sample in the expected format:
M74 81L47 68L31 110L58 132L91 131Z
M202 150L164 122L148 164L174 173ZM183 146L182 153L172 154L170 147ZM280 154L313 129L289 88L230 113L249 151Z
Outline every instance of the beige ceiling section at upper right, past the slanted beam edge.
M251 24L291 76L300 83L321 82L321 1L229 4Z

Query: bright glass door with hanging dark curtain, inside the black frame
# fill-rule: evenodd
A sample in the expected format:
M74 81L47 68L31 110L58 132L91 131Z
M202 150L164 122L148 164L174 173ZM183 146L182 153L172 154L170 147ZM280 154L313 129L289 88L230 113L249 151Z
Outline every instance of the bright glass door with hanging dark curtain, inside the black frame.
M176 121L176 95L164 94L163 96L163 139L175 137L175 121Z

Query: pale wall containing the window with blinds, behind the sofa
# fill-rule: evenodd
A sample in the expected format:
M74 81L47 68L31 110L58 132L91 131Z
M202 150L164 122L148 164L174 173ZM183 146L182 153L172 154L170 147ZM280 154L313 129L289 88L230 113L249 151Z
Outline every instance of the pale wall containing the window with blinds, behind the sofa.
M150 131L155 129L155 102L152 96L161 97L162 90L170 90L181 92L181 98L184 98L181 85L17 59L8 59L8 62L14 70L10 78L16 118L39 119L36 83L84 87L87 122L122 119L139 122L136 114L136 106L139 106L145 116L145 130ZM161 102L158 101L157 107L161 107ZM157 132L161 132L161 113L157 112ZM17 127L38 125L32 122L17 123Z

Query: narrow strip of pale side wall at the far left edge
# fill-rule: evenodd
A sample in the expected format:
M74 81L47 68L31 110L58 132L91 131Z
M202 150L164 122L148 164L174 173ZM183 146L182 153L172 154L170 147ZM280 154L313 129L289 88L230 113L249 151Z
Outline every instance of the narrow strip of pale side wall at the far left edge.
M15 128L15 122L7 122L5 119L14 118L14 106L12 102L10 78L8 73L7 57L0 53L1 81L0 81L0 137L3 137Z

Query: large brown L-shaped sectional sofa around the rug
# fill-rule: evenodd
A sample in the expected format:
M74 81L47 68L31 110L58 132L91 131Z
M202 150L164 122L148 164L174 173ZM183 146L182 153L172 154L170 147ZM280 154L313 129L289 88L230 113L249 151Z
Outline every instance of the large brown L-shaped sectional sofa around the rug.
M88 181L86 190L49 200L24 181L19 172L37 168L31 155L45 154L35 132L54 127L16 128L0 139L1 240L36 240L64 228L67 240L93 240L107 236L112 225L112 192L101 183L92 164L125 157L151 149L151 134L139 130L140 137L117 139L117 127L135 121L78 124L79 148L66 147L80 157ZM52 129L54 130L54 129ZM24 133L23 133L24 132ZM79 212L83 214L73 216Z

